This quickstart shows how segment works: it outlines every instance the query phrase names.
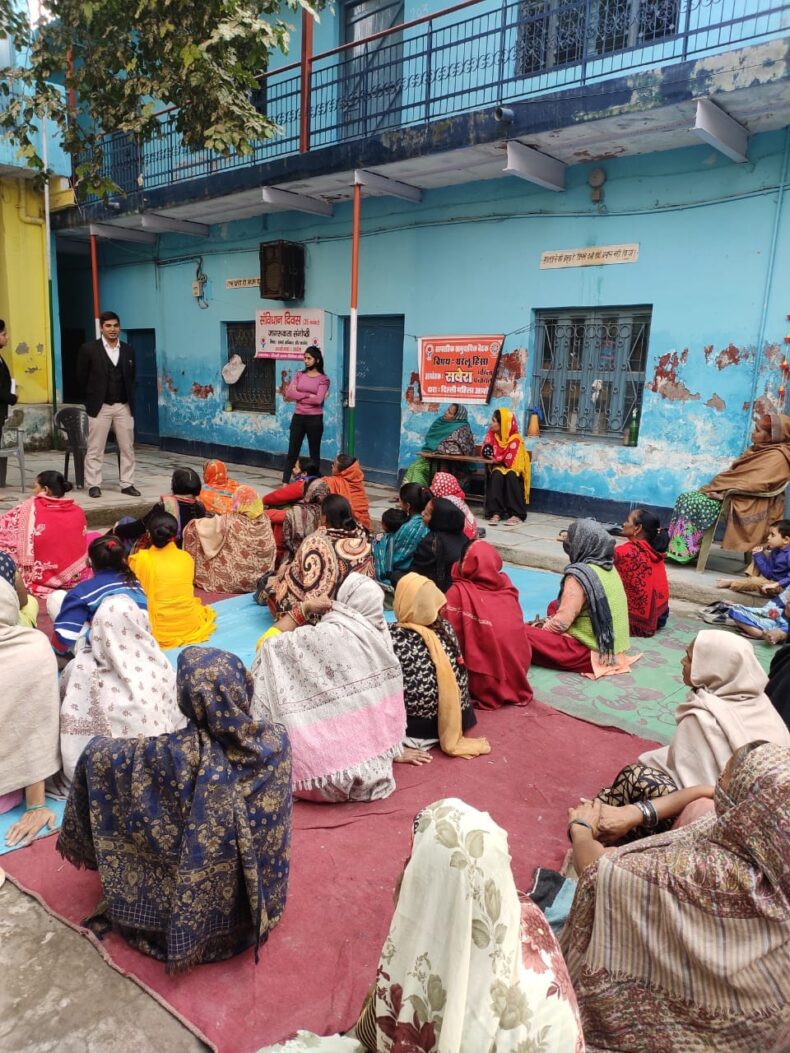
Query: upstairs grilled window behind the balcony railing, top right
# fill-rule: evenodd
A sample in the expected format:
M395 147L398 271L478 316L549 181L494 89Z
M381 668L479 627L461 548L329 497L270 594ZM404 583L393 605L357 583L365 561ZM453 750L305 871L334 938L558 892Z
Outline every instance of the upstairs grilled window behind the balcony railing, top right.
M679 0L522 0L516 76L673 37L678 6Z

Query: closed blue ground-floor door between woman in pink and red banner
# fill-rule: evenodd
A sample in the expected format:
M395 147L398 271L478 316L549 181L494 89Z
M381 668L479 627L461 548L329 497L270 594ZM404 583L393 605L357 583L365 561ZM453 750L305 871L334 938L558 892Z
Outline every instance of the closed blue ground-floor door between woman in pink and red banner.
M343 349L343 375L348 377L348 318ZM357 324L354 452L367 478L392 485L398 479L402 372L403 316L361 315Z

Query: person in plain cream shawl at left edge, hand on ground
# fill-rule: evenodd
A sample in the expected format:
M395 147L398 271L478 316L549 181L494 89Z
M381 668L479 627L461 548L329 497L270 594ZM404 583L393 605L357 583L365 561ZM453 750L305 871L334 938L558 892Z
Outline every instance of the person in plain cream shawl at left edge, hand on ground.
M44 779L60 767L58 663L43 633L19 625L16 564L8 557L0 574L0 811L22 798L25 812L6 843L32 840L55 814L44 803ZM9 580L11 578L11 580Z

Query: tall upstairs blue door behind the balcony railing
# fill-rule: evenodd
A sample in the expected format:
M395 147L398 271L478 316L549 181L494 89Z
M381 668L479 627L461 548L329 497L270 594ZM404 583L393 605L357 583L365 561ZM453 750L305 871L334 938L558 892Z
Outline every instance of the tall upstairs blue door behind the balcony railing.
M362 40L403 21L403 0L347 0L343 43ZM347 137L375 135L400 124L403 40L400 33L344 53L342 119Z

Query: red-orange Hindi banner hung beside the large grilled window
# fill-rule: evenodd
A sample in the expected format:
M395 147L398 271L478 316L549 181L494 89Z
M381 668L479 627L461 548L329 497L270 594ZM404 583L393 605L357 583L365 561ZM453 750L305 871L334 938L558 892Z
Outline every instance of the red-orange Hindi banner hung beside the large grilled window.
M503 342L503 335L420 337L422 401L488 402Z

